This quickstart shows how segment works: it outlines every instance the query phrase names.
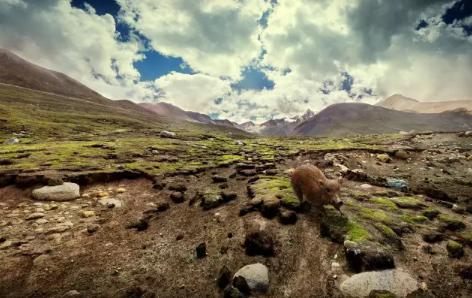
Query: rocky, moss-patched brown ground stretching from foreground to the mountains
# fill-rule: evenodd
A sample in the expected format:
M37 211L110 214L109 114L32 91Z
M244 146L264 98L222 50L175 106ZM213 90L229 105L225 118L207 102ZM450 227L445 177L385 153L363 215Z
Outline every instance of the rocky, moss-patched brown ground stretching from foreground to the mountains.
M295 197L305 162L344 177L342 214ZM472 295L470 136L116 133L0 164L1 297Z

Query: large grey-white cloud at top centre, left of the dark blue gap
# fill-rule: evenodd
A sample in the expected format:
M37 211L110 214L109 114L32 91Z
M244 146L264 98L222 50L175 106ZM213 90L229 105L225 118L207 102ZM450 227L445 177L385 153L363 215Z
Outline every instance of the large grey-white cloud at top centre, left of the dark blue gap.
M264 0L118 0L121 18L160 53L194 70L237 79L260 53Z

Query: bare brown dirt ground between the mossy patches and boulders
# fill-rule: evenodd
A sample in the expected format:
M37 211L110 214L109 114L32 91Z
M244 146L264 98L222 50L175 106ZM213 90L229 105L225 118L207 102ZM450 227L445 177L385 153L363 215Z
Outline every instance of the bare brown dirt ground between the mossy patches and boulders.
M466 205L472 200L472 183L467 184L472 177L472 161L462 157L459 161L447 159L472 152L470 138L457 145L463 141L448 135L418 136L407 145L430 148L431 152L418 151L408 161L389 163L379 163L375 155L365 151L334 154L344 156L347 167L361 167L373 176L404 177L412 189L419 189L417 186L429 177ZM277 165L277 175L284 175L285 170L304 160L316 164L323 155L282 161ZM328 165L324 170L328 175L339 174L334 166ZM167 188L155 189L144 178L86 185L81 189L82 197L70 202L38 202L31 199L31 189L0 188L0 296L219 297L222 290L216 279L222 266L226 265L234 274L244 265L260 262L269 268L270 277L269 291L261 297L343 297L338 290L339 282L353 272L346 265L343 245L320 235L318 219L312 213L299 213L294 225L266 219L258 212L239 216L239 210L248 201L249 178L241 175L227 183L226 190L236 192L236 200L211 210L203 210L198 201L192 200L197 191L217 185L211 179L214 174L232 177L234 171L233 167L218 168L166 178L168 184L182 182L187 186L182 203L172 202ZM361 187L365 184L346 180L342 198L389 191L380 186ZM119 200L122 206L101 205L97 199L100 192ZM420 195L427 206L453 214L450 206L421 192ZM169 202L170 208L152 213L147 229L126 228L160 202ZM85 217L82 211L94 211L94 215ZM27 219L35 212L43 216ZM349 209L347 214L353 216ZM465 222L467 229L472 227L469 213L455 215ZM270 226L276 239L274 256L245 253L248 222ZM464 256L452 259L443 241L431 245L434 254L425 253L427 244L421 233L429 228L424 224L402 236L404 249L395 254L396 267L424 282L426 297L472 296L472 282L457 273L458 266L470 264L472 250L465 245ZM200 243L207 247L207 256L202 259L195 255Z

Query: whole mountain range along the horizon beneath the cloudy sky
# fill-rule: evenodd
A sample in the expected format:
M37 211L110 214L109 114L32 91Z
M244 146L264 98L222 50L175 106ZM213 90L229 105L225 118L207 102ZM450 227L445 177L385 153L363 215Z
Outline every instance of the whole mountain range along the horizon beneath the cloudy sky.
M70 101L74 102L75 109L79 106L84 110L87 110L88 106L105 106L110 115L115 112L125 113L131 118L145 117L168 123L193 123L207 125L210 129L219 127L266 136L345 136L472 129L470 100L420 102L399 94L376 105L340 103L328 106L318 113L307 110L304 114L290 119L272 119L261 124L252 121L238 124L226 119L211 119L208 115L185 111L165 102L136 104L129 100L110 100L65 74L37 66L2 49L0 83L62 96L61 101L55 99L53 102L43 103L52 110L59 107L65 109L67 105L64 101Z

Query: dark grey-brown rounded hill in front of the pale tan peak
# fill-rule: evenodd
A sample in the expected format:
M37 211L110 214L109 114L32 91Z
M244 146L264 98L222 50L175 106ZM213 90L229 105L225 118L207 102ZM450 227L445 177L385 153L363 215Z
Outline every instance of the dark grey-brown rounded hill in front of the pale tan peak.
M303 136L346 136L399 132L462 131L472 128L472 115L465 112L419 114L359 103L327 107L294 128Z

